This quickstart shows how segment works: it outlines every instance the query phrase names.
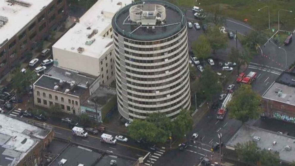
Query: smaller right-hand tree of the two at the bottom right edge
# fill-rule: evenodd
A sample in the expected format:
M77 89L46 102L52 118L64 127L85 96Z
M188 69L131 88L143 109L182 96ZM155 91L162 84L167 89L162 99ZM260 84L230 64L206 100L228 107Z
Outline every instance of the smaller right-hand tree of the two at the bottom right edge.
M260 152L260 162L263 166L277 166L280 165L279 152L269 151L263 149Z

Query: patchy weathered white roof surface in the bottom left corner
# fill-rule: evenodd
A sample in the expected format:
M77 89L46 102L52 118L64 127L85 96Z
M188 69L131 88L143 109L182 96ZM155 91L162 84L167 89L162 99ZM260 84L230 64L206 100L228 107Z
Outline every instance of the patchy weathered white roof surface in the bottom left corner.
M0 158L3 157L1 155L5 155L14 159L14 162L16 159L21 161L40 142L40 139L44 139L48 134L46 130L2 114L0 114L0 125L0 150L4 148ZM0 165L2 162L5 161L0 160Z

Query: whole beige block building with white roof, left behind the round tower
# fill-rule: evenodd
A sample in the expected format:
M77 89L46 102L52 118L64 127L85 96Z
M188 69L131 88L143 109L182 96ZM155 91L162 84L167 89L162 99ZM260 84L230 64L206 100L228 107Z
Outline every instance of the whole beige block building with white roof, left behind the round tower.
M101 76L101 84L108 85L114 81L112 18L130 3L131 0L97 1L52 46L57 66Z

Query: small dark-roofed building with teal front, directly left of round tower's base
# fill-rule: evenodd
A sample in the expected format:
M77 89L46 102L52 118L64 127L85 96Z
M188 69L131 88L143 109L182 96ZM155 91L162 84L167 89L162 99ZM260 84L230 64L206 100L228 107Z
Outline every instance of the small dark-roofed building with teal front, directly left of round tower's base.
M103 122L103 118L116 107L116 89L101 85L81 105L81 112L87 113L92 120Z

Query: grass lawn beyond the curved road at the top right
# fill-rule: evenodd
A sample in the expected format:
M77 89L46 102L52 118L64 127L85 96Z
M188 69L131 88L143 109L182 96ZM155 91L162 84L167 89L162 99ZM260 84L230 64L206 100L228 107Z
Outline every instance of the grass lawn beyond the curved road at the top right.
M180 7L191 8L197 5L205 11L215 13L220 10L222 15L248 23L256 29L268 28L268 8L258 9L268 5L271 28L278 28L278 11L280 9L293 12L280 11L280 29L293 31L295 28L295 1L294 0L167 0ZM199 5L200 3L200 5Z

